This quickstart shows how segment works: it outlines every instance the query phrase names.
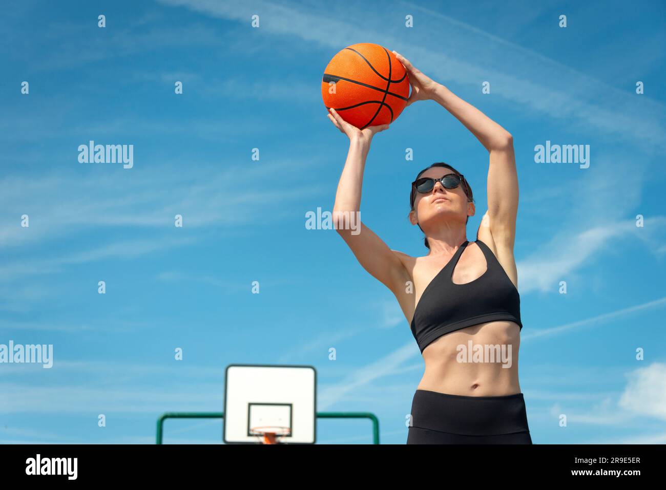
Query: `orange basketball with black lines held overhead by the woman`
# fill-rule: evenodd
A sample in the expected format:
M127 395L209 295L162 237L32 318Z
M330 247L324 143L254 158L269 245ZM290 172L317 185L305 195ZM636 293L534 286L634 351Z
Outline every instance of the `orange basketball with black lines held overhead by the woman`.
M326 66L322 98L340 117L363 129L398 119L410 96L410 81L396 55L380 45L346 47Z

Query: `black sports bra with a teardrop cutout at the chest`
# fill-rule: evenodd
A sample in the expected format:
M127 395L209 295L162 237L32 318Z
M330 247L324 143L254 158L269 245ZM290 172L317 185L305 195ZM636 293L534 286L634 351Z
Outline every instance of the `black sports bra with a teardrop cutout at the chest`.
M414 310L412 334L421 352L437 338L472 325L496 320L520 322L520 295L495 254L484 242L476 244L484 252L488 268L472 282L452 280L456 264L469 244L462 244L442 270L426 286Z

